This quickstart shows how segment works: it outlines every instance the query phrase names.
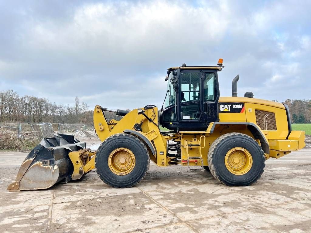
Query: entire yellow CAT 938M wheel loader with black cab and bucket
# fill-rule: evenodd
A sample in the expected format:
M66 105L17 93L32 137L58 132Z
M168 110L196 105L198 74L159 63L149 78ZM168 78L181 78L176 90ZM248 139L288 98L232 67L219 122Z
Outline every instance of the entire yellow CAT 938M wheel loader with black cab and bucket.
M154 105L130 112L97 105L97 151L72 135L54 134L29 153L8 189L46 189L93 169L107 185L131 187L146 176L150 160L159 167L205 169L225 185L253 184L267 159L305 146L304 131L291 130L285 104L255 99L251 92L237 97L239 76L232 81L232 97L220 97L223 68L222 59L217 66L169 68L160 111ZM107 122L105 111L123 118Z

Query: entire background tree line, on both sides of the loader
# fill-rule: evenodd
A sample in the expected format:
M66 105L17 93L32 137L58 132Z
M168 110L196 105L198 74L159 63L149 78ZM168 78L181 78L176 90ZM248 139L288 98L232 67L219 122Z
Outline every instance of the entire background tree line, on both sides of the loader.
M288 105L292 123L311 123L311 99L286 99L282 103ZM121 119L112 112L105 112L105 116L108 121ZM30 95L19 96L16 91L10 89L0 92L0 122L84 123L92 125L93 110L89 110L87 103L80 102L78 97L70 106L51 103L47 98Z

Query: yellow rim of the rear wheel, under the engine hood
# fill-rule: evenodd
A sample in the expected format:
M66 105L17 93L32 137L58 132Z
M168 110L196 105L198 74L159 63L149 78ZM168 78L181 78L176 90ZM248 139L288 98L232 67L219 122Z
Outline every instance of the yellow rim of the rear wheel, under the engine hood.
M225 165L232 174L244 175L253 165L253 157L248 150L235 147L232 148L225 156Z

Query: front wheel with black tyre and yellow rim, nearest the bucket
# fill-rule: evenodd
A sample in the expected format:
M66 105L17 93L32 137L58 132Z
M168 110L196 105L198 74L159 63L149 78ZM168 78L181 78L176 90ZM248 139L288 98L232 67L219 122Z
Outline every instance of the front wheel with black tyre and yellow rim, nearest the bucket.
M114 156L120 154L121 163L114 163L118 160ZM125 172L118 171L119 165L126 164L126 160L131 161L127 166L129 168ZM115 134L104 140L95 157L95 168L100 179L114 188L137 185L146 176L149 165L150 157L145 144L136 136L125 133Z

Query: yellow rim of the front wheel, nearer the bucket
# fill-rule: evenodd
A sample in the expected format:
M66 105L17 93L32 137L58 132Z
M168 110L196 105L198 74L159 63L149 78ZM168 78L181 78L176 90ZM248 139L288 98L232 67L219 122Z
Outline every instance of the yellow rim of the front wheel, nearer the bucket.
M128 148L118 148L109 154L108 166L110 171L119 176L130 173L135 167L135 155Z

